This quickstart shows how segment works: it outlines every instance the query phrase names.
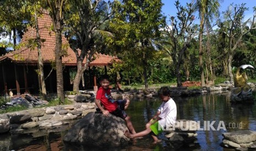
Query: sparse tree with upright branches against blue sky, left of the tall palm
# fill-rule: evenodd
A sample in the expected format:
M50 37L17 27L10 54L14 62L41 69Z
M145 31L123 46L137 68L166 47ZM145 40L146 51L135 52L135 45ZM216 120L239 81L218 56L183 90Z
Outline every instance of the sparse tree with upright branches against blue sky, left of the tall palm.
M175 75L177 78L177 86L182 83L182 64L186 58L186 51L192 40L198 34L198 25L194 24L194 8L192 3L187 3L183 7L179 1L176 1L177 16L170 16L170 24L166 25L159 40L161 50L172 57L173 66L175 66ZM183 66L185 67L185 66ZM185 73L188 67L185 67Z

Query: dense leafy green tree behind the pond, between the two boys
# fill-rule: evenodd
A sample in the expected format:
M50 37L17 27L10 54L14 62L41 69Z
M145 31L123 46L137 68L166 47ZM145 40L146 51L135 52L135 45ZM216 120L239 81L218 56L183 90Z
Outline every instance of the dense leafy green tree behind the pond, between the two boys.
M126 60L122 62L122 75L129 84L145 82L150 76L146 72L151 68L149 62L156 57L155 39L165 22L161 7L160 0L128 0L113 7L116 14L110 28L115 37L108 40L118 57Z

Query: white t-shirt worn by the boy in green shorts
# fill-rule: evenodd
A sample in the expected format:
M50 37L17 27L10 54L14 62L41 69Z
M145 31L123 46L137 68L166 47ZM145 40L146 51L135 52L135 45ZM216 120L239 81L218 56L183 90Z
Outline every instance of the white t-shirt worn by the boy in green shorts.
M176 123L177 107L176 103L170 98L167 102L162 102L158 111L160 111L158 123L166 129L167 125Z

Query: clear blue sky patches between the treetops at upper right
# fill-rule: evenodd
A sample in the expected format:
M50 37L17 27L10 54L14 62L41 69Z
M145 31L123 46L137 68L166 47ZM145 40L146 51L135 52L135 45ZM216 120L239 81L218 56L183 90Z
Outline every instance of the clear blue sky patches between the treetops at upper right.
M191 2L192 0L179 0L181 5L186 6L186 3ZM162 0L164 6L162 7L162 13L164 13L167 17L168 15L176 16L177 9L175 7L175 0ZM256 7L256 0L224 0L224 2L220 3L220 11L225 11L228 9L228 6L233 3L242 4L246 3L246 7L249 8L248 11L245 12L245 19L249 19L253 17L253 7Z

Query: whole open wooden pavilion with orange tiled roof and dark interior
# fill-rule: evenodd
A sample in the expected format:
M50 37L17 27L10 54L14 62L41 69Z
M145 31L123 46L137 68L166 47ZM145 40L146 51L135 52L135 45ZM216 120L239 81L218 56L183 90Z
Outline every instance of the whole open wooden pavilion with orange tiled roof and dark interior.
M48 93L57 91L56 84L56 72L52 70L51 63L55 62L55 33L50 30L52 20L50 16L46 13L43 14L41 18L38 19L39 33L41 39L43 39L41 52L43 60L43 71L45 77L48 78L46 82L46 90ZM37 93L40 90L40 80L37 74L38 71L38 54L37 48L29 47L30 40L36 38L35 28L28 28L25 32L23 38L21 39L21 44L24 44L18 50L10 51L10 53L0 57L0 91L1 95L6 94L7 90L14 90L17 95L21 93L31 94ZM67 39L62 36L62 45L66 46L66 54L62 57L63 68L63 83L64 91L72 91L73 85L70 84L69 70L70 68L77 67L77 58L74 51L69 47ZM118 60L117 57L112 57L109 55L95 54L96 59L89 64L89 69L91 66L106 66L111 65L113 60ZM84 60L85 62L85 60ZM89 72L90 75L90 72ZM91 76L90 76L91 77ZM90 88L92 85L92 80L89 77L89 85L86 88ZM93 77L93 86L96 86L96 76Z

